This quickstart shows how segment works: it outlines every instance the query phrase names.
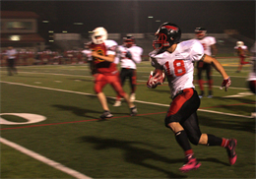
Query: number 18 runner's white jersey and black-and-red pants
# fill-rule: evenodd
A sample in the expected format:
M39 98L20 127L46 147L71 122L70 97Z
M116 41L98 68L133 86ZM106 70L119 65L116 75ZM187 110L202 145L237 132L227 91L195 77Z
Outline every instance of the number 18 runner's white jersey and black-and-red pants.
M171 91L172 102L165 116L165 126L169 128L169 123L179 122L193 144L197 144L202 135L196 113L200 98L193 85L194 63L203 56L203 46L196 39L178 43L172 53L158 54L158 50L150 53L152 65L164 70Z

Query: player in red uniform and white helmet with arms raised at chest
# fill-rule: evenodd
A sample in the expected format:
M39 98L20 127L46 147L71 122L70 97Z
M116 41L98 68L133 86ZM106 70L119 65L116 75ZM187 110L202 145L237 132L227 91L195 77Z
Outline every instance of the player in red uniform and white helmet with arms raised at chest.
M116 64L113 63L116 55L117 43L114 40L107 39L107 31L104 28L93 30L92 42L88 43L90 50L84 51L89 56L92 74L95 77L96 96L103 108L101 119L111 118L111 114L105 94L102 89L107 85L123 97L130 107L131 116L137 114L136 106L130 101L129 95L122 89L119 79L119 72Z

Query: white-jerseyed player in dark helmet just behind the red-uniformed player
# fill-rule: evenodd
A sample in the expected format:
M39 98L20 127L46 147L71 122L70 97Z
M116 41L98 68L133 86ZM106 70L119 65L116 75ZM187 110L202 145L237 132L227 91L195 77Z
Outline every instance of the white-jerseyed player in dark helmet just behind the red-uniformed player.
M135 44L135 39L131 34L124 37L123 45L118 46L119 55L115 58L115 63L121 62L121 85L124 86L125 80L128 78L130 82L131 94L130 100L135 100L136 90L136 64L141 63L143 49ZM121 105L121 97L117 95L113 106Z

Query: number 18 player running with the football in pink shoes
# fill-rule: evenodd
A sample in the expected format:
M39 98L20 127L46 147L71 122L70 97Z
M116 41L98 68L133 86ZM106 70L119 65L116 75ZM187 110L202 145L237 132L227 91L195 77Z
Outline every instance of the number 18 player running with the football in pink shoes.
M164 23L160 26L153 42L155 50L150 53L152 65L156 69L147 83L148 88L155 89L163 82L162 73L167 78L172 102L164 121L185 153L186 162L180 170L187 172L201 165L196 160L189 141L193 145L224 147L232 165L236 161L236 140L222 139L211 134L202 134L200 131L197 118L200 98L193 85L194 63L204 61L213 64L224 78L222 87L225 89L230 86L230 78L215 58L204 53L198 40L179 42L180 36L181 30L175 24Z

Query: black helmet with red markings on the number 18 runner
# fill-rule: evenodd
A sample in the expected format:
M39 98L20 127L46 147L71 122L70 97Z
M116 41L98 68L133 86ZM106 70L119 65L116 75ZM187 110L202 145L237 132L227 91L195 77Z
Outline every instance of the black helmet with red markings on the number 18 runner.
M153 41L154 49L166 50L174 43L179 43L181 30L171 23L163 23L155 33L156 40Z

